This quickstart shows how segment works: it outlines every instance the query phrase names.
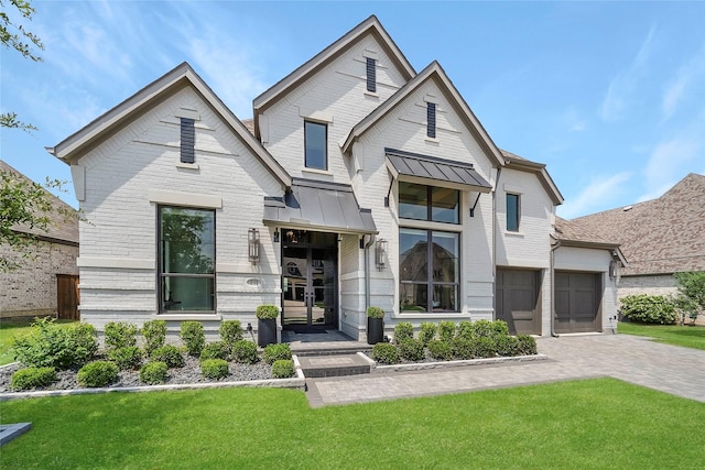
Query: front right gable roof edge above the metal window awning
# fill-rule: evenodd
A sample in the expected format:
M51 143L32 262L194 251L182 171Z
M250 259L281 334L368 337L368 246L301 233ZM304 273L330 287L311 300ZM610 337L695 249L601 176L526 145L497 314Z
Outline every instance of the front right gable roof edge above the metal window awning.
M446 95L451 105L455 108L458 116L465 121L467 128L478 141L480 147L487 153L489 159L494 160L498 166L505 165L505 159L500 150L495 145L495 142L492 142L487 131L485 131L480 121L475 117L470 107L467 106L463 96L458 92L448 76L445 74L443 67L441 67L441 64L436 61L429 64L429 66L421 70L419 75L409 80L406 85L401 87L387 101L381 103L375 109L375 111L358 122L350 130L350 133L343 143L343 153L347 153L352 143L356 142L367 130L372 128L380 119L387 116L392 109L394 109L427 80L435 80L441 91Z

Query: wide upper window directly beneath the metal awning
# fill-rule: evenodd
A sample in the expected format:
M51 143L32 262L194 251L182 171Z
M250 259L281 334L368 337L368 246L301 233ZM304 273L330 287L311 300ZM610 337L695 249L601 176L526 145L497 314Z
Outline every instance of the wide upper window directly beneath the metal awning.
M460 192L399 182L399 217L433 222L460 222Z

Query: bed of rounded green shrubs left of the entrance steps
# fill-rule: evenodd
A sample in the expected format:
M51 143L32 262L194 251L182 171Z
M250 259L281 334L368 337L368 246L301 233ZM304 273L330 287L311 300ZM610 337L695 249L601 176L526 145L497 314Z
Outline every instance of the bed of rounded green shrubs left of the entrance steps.
M105 328L105 351L98 350L96 329L87 324L59 328L51 318L36 319L32 334L15 338L15 360L25 368L12 375L14 390L32 390L56 381L57 370L77 369L80 386L100 387L116 382L118 372L139 370L145 384L164 383L169 369L184 367L184 354L200 360L200 373L206 379L223 379L229 373L228 361L254 364L260 361L257 345L243 339L238 320L220 325L220 340L206 343L203 324L183 321L180 337L182 347L166 345L166 321L145 321L140 331L127 323L109 323ZM138 335L142 334L143 348ZM105 360L104 360L105 359ZM274 378L294 375L289 345L269 345L261 359L272 365Z

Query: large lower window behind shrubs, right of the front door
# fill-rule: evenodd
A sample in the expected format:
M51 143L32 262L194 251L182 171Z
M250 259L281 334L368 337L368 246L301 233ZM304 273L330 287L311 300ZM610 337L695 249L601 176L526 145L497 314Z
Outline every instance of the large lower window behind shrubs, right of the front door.
M457 311L458 233L399 229L401 311Z

